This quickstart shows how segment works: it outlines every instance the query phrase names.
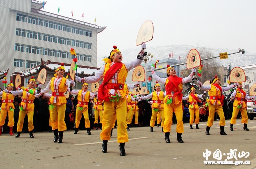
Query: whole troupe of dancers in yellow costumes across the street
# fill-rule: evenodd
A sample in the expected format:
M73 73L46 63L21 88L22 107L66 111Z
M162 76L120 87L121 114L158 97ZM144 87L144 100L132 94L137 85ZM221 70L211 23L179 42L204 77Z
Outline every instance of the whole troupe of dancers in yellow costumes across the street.
M146 49L146 44L143 43L141 45L142 49ZM82 114L83 110L88 107L88 101L86 100L87 96L94 97L94 94L91 94L90 92L83 92L84 88L88 88L87 83L92 82L98 82L103 78L103 82L99 87L98 90L98 100L100 102L104 101L104 110L103 110L103 116L102 116L102 132L100 133L100 139L102 140L102 152L107 152L107 142L110 140L110 134L111 130L113 128L113 125L115 121L117 120L118 129L117 129L117 142L120 144L120 156L124 156L125 153L125 143L129 142L128 140L128 133L127 133L127 95L128 95L128 89L125 89L125 80L128 74L128 71L135 68L136 66L140 65L144 56L144 50L141 50L139 55L140 57L137 58L135 61L129 62L129 63L122 63L122 53L119 49L117 49L116 46L114 46L114 49L110 52L110 55L104 59L105 65L102 66L98 73L96 73L94 76L89 76L85 78L80 78L76 76L75 80L84 83L83 89L80 91L76 91L75 94L78 94L78 105L77 105L77 111L80 111ZM175 113L177 118L177 140L180 143L183 143L182 140L182 133L184 132L183 122L182 122L182 89L183 84L186 82L189 82L192 80L194 73L196 72L195 69L192 69L191 74L188 77L181 78L178 77L176 74L176 71L173 67L167 66L167 78L161 78L157 76L154 72L154 68L151 67L151 73L152 77L157 80L158 82L165 84L166 94L163 100L159 98L160 91L158 91L158 87L155 86L155 94L152 94L153 97L153 109L158 109L159 112L161 112L161 117L163 122L163 132L165 135L165 141L166 143L170 143L169 135L171 130L171 124L172 124L172 112ZM19 115L19 122L17 126L17 135L15 137L19 137L23 125L23 120L25 117L25 114L28 115L29 118L29 131L30 131L30 137L33 137L33 100L35 97L39 97L43 94L46 94L50 90L52 91L52 97L50 99L50 116L52 120L52 128L54 130L54 142L55 143L62 143L63 139L63 131L66 130L66 124L64 122L64 115L65 115L65 109L66 109L66 98L65 98L65 92L70 87L70 85L74 86L75 83L73 80L69 81L67 78L63 77L65 73L65 68L63 65L59 66L56 70L55 77L53 77L50 82L47 84L46 88L41 90L40 93L37 93L34 89L35 87L35 79L29 80L29 86L28 88L20 91L12 91L13 84L8 84L7 90L0 92L0 95L3 96L3 104L2 104L2 110L0 114L0 127L3 126L6 114L9 115L9 122L8 126L12 127L14 125L14 120L11 119L13 117L13 98L14 95L17 94L23 94L22 98L23 101L20 106L20 115ZM87 85L86 85L87 84ZM207 100L209 103L209 118L206 126L206 134L210 134L209 130L210 127L213 125L214 120L214 113L217 112L220 116L220 130L222 135L227 135L224 132L224 126L225 126L225 118L224 113L221 106L221 101L223 99L222 92L228 91L235 86L238 86L239 84L233 84L228 87L221 87L220 86L220 80L218 77L215 77L209 86L202 86L201 82L198 81L199 87L202 90L209 91L210 99ZM241 85L241 84L240 84ZM153 92L154 93L154 92ZM234 95L235 94L235 95ZM153 96L154 95L154 96ZM157 95L157 96L156 96ZM162 94L161 94L162 95ZM189 98L189 102L196 102L195 97L193 97L193 92L191 98ZM240 110L243 112L243 119L242 122L244 124L247 124L247 114L244 113L244 109L246 107L244 101L253 99L249 98L245 92L238 88L236 93L233 93L233 97L237 98L237 104L242 105L241 107L234 108L233 115L236 116L238 111ZM155 99L155 98L157 99ZM147 99L146 98L139 98L139 99ZM160 101L160 102L159 102ZM239 102L239 103L238 103ZM193 104L193 103L192 103ZM156 106L157 105L157 106ZM236 103L234 103L236 105ZM196 106L194 106L195 108ZM88 110L87 110L88 111ZM153 110L155 112L155 110ZM162 113L163 112L163 113ZM85 113L84 113L85 115ZM81 115L79 115L81 117ZM88 113L87 113L88 116ZM85 116L86 117L86 116ZM231 120L231 124L235 123L235 117ZM77 126L77 125L76 125ZM152 125L151 125L152 126ZM89 128L90 126L86 126ZM153 127L153 126L152 126ZM245 125L245 128L247 129L247 126ZM12 135L12 130L10 130L10 134Z

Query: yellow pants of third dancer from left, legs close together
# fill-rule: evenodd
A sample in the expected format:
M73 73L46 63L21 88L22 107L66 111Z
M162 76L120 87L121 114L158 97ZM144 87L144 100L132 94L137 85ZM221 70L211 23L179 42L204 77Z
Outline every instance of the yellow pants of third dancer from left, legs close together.
M50 117L52 119L52 128L53 130L58 129L58 131L64 131L67 129L65 119L66 104L58 105L53 103L54 108L50 108Z

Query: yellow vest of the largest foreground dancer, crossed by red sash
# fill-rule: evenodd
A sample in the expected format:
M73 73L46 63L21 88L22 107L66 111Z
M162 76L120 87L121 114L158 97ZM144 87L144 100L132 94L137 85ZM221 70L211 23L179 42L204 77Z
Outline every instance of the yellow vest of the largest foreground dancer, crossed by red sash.
M107 70L110 68L110 65L111 65L111 63L105 64L103 76L105 76ZM128 74L128 70L126 69L125 64L123 64L121 69L117 72L117 82L116 83L120 83L120 84L124 85L127 74ZM107 83L112 83L112 78ZM109 93L109 91L110 91L110 89L108 89L108 91L106 91L106 92ZM126 95L129 93L127 90L117 90L117 91L120 92L122 98L125 98ZM115 93L118 93L117 91Z

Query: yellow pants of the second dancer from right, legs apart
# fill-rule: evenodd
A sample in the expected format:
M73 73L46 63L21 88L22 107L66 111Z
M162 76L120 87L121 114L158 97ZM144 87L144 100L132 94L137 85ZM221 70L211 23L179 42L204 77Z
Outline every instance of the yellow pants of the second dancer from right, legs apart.
M215 112L217 112L217 114L220 117L220 126L224 126L226 124L224 112L223 112L222 106L218 105L217 103L215 105L209 104L209 117L207 120L207 126L211 127L213 125Z

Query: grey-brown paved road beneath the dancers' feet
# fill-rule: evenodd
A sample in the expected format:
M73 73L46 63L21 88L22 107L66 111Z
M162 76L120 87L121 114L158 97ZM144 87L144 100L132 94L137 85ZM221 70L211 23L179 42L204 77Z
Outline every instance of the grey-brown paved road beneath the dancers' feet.
M15 134L2 134L0 168L256 168L256 120L248 121L250 131L243 130L240 120L234 125L234 131L229 130L229 120L226 121L227 136L220 135L219 121L214 121L211 135L204 133L206 122L199 124L200 129L195 129L195 125L190 129L188 123L184 124L184 143L177 142L176 125L172 125L169 144L165 143L161 127L154 127L154 132L150 132L150 127L132 127L128 131L130 142L125 145L126 156L119 155L117 129L111 137L114 142L108 143L107 153L101 152L101 130L92 130L92 135L87 135L86 130L79 130L77 134L65 131L62 144L53 143L53 132L34 133L35 138L29 138L29 133L21 133L19 138L15 138ZM205 149L212 152L208 159L211 161L215 160L213 154L217 149L222 153L222 160L227 159L230 149L237 149L237 159L249 160L250 165L205 165ZM243 151L250 156L238 158L238 152Z

